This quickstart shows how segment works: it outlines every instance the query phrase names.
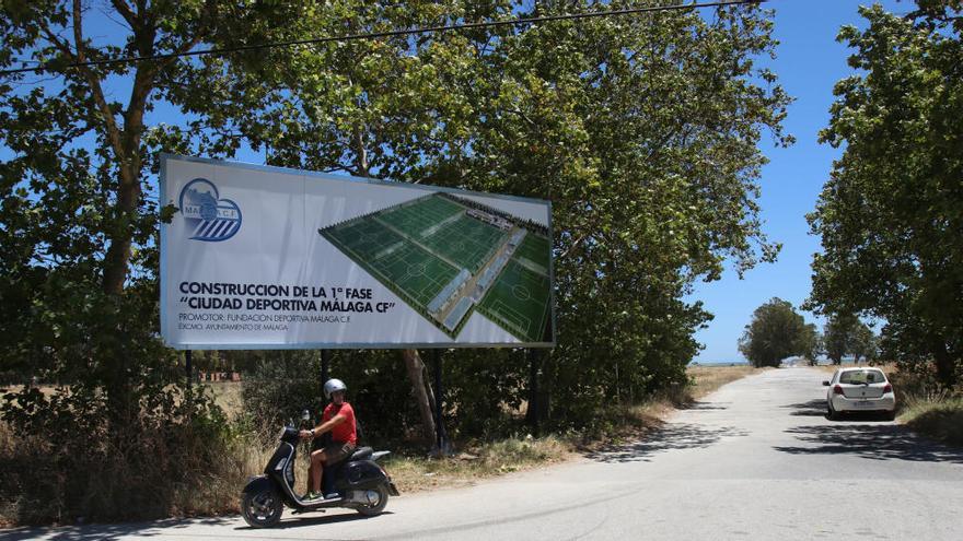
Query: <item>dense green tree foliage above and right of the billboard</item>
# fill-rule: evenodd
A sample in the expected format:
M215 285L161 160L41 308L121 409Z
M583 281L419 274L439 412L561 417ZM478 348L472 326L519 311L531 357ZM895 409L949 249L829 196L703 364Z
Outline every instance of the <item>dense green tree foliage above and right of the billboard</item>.
M290 16L279 38L532 14L508 1L330 10ZM742 271L775 258L757 215L757 144L764 130L791 138L780 128L789 98L753 62L773 54L770 31L743 7L277 49L256 78L243 64L209 69L234 70L219 108L240 115L271 164L549 199L559 345L543 391L566 425L684 381L710 315L682 297L727 259ZM251 95L270 106L243 107ZM525 380L526 366L506 366Z

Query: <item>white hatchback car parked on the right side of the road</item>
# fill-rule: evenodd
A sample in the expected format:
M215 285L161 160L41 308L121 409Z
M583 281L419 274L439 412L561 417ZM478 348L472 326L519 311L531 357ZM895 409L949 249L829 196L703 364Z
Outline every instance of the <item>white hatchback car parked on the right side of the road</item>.
M833 379L823 381L829 419L851 411L883 412L892 421L896 416L896 397L893 385L879 368L868 366L839 368Z

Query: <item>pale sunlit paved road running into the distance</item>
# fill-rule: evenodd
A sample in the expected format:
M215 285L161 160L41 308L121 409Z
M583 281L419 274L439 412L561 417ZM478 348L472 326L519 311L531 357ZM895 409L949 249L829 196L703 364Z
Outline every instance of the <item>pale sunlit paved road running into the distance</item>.
M7 539L963 539L963 451L893 423L829 422L824 374L769 371L645 442L388 511L8 531Z

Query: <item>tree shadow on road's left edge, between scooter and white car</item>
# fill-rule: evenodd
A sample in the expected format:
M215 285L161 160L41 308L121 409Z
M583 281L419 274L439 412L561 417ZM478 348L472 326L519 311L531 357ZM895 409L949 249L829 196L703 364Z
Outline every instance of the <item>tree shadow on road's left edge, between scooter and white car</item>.
M746 436L747 432L731 426L706 427L697 424L670 423L646 434L631 444L608 445L585 454L600 462L650 461L652 455L673 449L708 447L724 436Z

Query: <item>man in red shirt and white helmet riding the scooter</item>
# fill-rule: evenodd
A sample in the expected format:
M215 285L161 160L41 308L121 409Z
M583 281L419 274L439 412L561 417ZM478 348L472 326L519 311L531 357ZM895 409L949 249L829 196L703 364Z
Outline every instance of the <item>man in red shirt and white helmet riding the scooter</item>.
M324 396L330 403L324 409L321 424L310 431L301 431L302 439L311 439L330 432L332 440L322 449L311 454L311 466L308 468L308 494L304 499L333 498L337 494L321 493L322 475L326 463L335 463L349 457L358 445L358 425L355 421L355 409L345 401L348 390L340 379L328 379L324 384Z

